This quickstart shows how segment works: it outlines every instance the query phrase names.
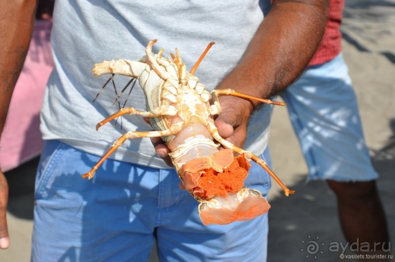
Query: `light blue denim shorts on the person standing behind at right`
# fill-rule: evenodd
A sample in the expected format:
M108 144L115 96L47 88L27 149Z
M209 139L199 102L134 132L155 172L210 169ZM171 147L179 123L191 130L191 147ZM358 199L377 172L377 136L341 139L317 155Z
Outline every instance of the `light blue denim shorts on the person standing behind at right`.
M376 179L357 100L342 55L309 67L281 94L302 146L309 179Z

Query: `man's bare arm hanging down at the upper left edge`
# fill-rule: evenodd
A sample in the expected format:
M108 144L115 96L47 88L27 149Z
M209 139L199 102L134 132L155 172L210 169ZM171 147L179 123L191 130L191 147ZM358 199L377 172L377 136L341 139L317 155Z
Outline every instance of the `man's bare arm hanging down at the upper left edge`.
M0 134L33 31L36 0L0 1Z

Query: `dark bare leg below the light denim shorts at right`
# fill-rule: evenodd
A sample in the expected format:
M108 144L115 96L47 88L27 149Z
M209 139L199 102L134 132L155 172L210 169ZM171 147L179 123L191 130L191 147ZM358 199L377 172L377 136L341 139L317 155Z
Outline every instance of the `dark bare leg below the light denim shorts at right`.
M384 209L376 188L376 181L339 182L327 180L337 196L340 224L350 242L380 242L377 248L388 249L389 235Z

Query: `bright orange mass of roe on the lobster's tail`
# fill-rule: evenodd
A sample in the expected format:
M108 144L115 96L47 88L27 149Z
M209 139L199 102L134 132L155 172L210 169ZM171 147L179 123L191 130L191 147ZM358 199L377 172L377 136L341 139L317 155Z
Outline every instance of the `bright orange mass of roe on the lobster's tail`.
M236 193L244 186L244 179L247 175L248 171L239 166L236 158L223 173L218 173L212 168L205 169L199 177L197 187L203 191L199 196L206 199L214 195L227 196L228 192Z

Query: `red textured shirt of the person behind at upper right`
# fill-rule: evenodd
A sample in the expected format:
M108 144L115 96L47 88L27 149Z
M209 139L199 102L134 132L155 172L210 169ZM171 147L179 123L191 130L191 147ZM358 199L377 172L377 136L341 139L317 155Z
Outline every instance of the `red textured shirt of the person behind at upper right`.
M335 58L342 51L342 33L340 24L344 9L344 0L329 0L328 20L324 37L311 59L309 66L324 64Z

